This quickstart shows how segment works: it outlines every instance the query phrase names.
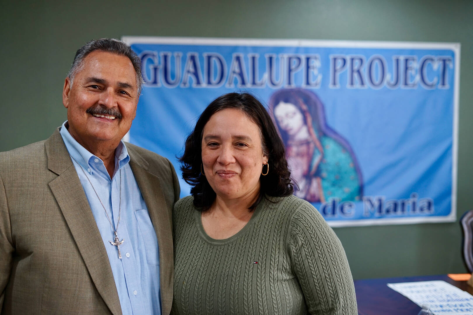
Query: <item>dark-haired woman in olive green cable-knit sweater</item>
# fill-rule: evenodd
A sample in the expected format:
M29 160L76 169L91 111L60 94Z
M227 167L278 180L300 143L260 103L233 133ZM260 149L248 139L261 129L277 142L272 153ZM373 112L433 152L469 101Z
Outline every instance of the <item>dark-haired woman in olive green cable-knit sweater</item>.
M292 196L284 146L252 95L210 103L185 143L173 314L357 314L342 244Z

